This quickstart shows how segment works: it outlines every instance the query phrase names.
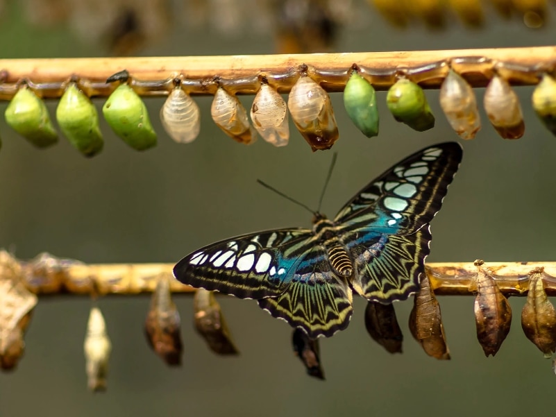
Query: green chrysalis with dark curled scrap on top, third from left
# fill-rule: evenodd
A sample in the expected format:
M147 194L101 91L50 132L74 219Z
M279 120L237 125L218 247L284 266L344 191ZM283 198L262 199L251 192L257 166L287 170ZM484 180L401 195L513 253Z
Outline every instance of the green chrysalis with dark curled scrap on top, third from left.
M114 133L136 151L156 145L145 103L129 85L120 84L104 103L102 112Z

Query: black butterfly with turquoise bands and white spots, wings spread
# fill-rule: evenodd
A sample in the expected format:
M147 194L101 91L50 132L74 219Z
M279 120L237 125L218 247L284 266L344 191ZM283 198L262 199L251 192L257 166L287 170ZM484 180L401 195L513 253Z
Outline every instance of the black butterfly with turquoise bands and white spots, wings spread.
M312 339L330 337L348 326L353 291L390 304L419 289L429 223L461 160L456 142L424 148L371 181L334 220L316 212L312 229L219 241L181 259L174 276L192 287L258 300Z

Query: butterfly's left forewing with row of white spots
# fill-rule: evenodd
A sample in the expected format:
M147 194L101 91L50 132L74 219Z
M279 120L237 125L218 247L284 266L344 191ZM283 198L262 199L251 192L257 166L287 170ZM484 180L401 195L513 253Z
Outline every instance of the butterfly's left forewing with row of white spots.
M174 276L195 288L239 298L279 296L292 279L312 232L281 229L251 233L205 246L180 260Z

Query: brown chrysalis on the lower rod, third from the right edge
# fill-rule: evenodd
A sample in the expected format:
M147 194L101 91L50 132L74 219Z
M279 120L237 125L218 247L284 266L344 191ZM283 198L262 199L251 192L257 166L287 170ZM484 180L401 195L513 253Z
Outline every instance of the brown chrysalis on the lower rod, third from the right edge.
M410 314L410 330L427 355L436 359L450 359L440 305L434 291L430 288L426 274L421 278L421 289L414 297L413 309Z

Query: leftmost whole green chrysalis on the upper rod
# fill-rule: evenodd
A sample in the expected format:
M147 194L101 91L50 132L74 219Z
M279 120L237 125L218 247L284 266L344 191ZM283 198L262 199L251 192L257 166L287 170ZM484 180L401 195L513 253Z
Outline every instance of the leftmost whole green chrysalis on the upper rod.
M47 105L27 85L17 91L4 117L13 130L37 148L47 148L58 142Z

